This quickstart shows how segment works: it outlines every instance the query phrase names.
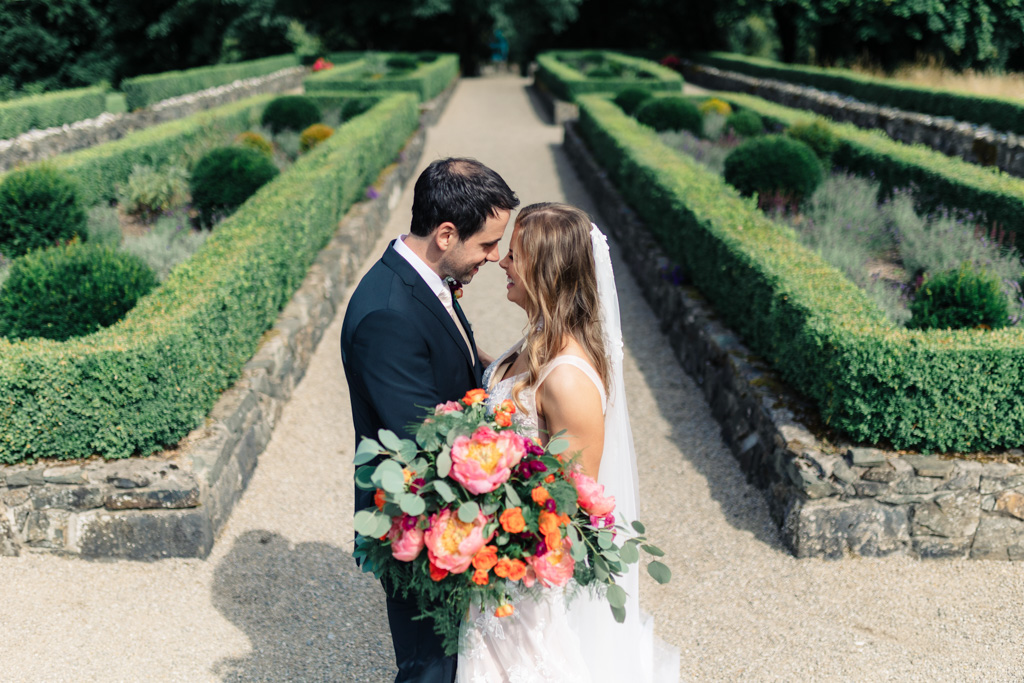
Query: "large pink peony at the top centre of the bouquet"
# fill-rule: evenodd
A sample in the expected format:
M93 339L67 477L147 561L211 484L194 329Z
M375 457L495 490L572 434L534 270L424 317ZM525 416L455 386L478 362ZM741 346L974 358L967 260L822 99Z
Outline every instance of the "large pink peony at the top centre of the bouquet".
M472 436L460 436L452 444L450 476L471 494L487 494L508 481L524 455L518 434L479 427Z

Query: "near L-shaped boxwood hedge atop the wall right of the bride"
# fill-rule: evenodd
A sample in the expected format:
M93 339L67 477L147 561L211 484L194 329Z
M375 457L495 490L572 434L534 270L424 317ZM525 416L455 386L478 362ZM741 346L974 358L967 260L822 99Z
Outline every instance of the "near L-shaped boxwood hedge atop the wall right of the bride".
M669 256L825 424L896 447L1024 443L1024 329L898 328L792 231L609 100L580 99L580 131Z

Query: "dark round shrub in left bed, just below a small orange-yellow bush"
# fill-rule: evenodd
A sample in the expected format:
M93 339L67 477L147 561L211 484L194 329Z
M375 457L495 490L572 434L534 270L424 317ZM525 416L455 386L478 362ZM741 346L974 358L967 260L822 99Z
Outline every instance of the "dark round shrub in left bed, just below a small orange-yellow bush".
M193 171L193 204L204 225L212 225L242 206L272 180L278 167L266 156L247 147L217 147L208 152Z

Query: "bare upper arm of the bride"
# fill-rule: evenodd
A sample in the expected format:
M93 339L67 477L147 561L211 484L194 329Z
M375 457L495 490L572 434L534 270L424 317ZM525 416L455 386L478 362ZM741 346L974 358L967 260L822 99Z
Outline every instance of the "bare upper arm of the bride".
M593 380L572 366L555 368L538 387L537 412L549 434L565 430L566 453L580 452L584 472L596 481L604 452L604 414Z

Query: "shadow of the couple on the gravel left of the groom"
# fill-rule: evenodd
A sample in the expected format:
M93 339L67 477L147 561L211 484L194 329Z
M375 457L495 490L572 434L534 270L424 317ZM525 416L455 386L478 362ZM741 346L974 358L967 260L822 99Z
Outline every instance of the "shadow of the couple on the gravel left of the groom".
M215 665L223 681L394 679L384 593L340 548L244 533L214 572L213 604L252 643Z

